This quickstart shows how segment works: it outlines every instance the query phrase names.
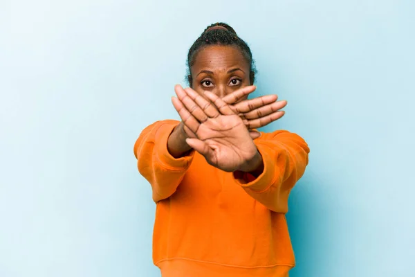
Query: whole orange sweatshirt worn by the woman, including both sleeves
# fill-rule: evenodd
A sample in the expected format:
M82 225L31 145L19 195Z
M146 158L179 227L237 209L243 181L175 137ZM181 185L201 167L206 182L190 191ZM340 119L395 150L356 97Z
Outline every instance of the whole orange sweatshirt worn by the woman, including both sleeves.
M308 163L297 134L263 133L264 172L235 176L192 152L174 159L176 120L146 127L134 145L156 202L153 260L163 277L286 277L295 259L286 223L288 194Z

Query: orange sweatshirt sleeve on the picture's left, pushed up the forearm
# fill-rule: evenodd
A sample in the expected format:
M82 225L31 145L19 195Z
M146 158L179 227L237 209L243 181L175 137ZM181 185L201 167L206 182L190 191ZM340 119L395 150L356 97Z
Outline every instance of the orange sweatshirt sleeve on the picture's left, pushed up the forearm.
M173 195L192 163L194 152L175 159L167 150L167 139L178 123L157 121L141 132L134 145L138 171L151 184L154 202Z

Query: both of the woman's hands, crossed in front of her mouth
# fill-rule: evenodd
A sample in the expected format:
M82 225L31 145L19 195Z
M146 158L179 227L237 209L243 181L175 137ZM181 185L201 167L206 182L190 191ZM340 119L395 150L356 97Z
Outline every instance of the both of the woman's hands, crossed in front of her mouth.
M172 102L181 117L181 128L190 148L205 157L212 166L226 172L252 172L262 164L253 139L260 136L253 129L263 127L284 116L280 111L286 101L268 95L241 100L256 87L243 87L219 98L210 91L203 96L193 89L176 85Z

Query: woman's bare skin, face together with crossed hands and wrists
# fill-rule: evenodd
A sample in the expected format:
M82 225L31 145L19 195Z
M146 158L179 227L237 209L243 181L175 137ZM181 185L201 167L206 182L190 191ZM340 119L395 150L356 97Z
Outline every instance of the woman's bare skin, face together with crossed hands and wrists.
M281 118L286 101L275 95L246 100L255 87L237 47L208 46L195 60L192 89L175 87L172 102L182 122L169 136L169 152L178 158L194 149L216 168L259 175L264 165L253 143L259 133L252 129Z

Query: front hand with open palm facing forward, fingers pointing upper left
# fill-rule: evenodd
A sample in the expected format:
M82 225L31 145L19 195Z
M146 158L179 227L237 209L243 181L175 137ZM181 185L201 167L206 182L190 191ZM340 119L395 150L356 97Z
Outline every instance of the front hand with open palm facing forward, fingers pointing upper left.
M262 165L250 132L226 102L210 91L205 96L214 105L194 91L176 94L172 102L190 137L186 142L210 165L227 172L251 172Z

